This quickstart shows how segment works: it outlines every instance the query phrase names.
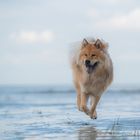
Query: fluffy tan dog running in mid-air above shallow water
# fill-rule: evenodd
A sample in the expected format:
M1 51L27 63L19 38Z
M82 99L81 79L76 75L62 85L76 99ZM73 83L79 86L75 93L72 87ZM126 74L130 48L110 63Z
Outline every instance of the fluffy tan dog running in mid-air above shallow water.
M77 107L91 119L97 118L96 107L113 80L113 64L108 44L100 39L83 39L71 53ZM87 107L90 98L90 108Z

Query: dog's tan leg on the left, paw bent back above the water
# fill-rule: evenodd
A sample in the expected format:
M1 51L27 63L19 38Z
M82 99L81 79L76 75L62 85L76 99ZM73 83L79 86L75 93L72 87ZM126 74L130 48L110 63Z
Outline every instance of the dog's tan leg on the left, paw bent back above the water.
M88 101L88 95L86 93L81 93L81 107L80 108L87 115L90 115L90 111L87 108L87 101Z

